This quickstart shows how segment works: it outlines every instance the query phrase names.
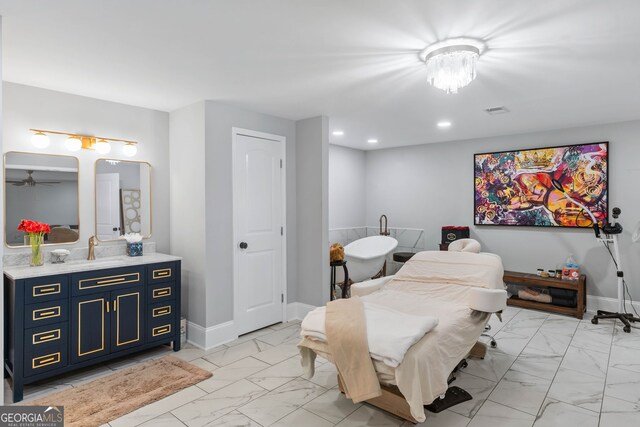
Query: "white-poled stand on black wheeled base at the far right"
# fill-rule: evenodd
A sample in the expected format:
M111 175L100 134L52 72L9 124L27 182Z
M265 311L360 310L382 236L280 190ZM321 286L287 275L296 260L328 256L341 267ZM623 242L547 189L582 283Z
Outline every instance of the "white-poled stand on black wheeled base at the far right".
M613 208L613 217L615 219L618 219L618 217L620 216L620 213L621 213L620 208ZM615 264L616 270L617 270L618 311L611 312L611 311L598 310L596 315L593 316L593 319L591 319L591 323L593 323L594 325L597 325L598 320L600 319L618 319L624 325L622 330L629 333L631 332L631 323L640 322L640 318L633 316L633 314L629 314L625 312L626 311L625 303L624 303L625 282L624 282L624 273L622 271L622 260L620 259L620 247L618 246L618 235L622 233L622 226L617 222L613 225L611 223L608 223L608 224L605 224L605 226L602 228L602 231L604 231L605 237L598 236L598 239L601 240L607 247L607 250L611 254L611 257L613 258L613 263ZM611 252L611 249L609 247L609 245L611 244L613 245L613 252Z

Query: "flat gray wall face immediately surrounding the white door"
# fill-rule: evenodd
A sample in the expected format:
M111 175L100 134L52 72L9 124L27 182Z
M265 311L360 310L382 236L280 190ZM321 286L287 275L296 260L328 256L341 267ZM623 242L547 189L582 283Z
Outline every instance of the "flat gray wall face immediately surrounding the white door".
M207 323L233 319L232 128L287 139L287 300L296 299L296 126L291 120L205 101Z

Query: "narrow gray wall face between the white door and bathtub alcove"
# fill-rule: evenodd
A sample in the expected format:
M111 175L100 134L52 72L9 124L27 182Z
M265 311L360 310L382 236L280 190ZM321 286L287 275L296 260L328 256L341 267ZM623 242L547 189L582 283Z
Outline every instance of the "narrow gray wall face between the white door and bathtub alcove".
M296 123L298 299L322 306L329 300L329 119Z

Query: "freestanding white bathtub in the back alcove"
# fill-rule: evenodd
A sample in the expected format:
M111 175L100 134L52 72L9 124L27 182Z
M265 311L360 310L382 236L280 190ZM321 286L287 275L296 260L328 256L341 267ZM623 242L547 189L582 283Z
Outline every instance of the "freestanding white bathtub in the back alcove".
M375 276L384 265L387 255L398 246L398 241L389 236L369 236L355 240L344 247L349 279L354 283ZM342 269L337 269L342 273ZM344 278L337 277L338 281Z

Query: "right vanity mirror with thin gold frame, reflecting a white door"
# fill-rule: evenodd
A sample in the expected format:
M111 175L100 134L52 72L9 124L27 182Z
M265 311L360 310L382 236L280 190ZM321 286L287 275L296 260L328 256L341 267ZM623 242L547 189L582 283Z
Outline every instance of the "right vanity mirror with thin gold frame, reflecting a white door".
M125 233L151 237L151 165L96 161L96 237L116 240Z

